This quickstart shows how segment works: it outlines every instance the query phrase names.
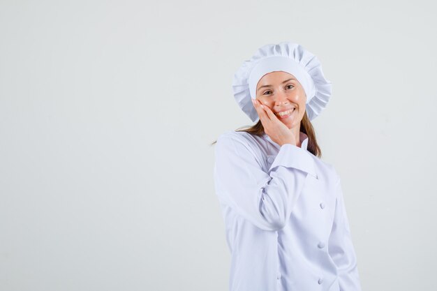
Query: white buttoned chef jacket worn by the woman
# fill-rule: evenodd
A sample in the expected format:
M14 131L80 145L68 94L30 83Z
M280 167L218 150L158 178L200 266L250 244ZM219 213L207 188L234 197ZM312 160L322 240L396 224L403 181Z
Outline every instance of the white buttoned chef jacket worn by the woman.
M230 291L361 291L339 175L299 137L301 147L233 130L217 139Z

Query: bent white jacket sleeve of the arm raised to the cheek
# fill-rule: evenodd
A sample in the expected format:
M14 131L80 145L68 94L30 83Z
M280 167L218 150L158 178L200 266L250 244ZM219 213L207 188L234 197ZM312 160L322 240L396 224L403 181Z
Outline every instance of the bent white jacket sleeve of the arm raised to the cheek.
M218 137L214 183L221 202L262 230L280 230L288 221L304 186L315 175L310 154L283 144L267 172L249 144L235 137Z

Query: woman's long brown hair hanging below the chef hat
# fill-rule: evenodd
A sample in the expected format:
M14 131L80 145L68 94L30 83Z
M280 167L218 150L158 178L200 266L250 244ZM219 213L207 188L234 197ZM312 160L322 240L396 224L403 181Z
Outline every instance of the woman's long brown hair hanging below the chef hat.
M258 122L253 126L243 126L242 128L237 128L235 131L245 131L246 133L250 133L251 135L258 136L262 136L265 133L264 127L262 126L260 119L258 119ZM300 121L300 131L308 136L308 151L314 156L320 158L322 156L322 151L317 144L316 133L314 132L313 124L311 124L308 115L306 115L306 110L302 121ZM214 140L214 142L212 142L212 144L210 145L214 145L216 144L216 142L217 140Z

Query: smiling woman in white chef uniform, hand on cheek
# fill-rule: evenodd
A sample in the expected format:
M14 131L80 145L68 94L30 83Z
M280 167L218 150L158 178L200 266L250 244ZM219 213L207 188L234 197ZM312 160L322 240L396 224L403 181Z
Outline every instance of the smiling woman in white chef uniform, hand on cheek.
M257 123L216 142L230 291L361 290L339 174L311 126L331 96L320 62L296 43L265 45L232 88Z

